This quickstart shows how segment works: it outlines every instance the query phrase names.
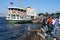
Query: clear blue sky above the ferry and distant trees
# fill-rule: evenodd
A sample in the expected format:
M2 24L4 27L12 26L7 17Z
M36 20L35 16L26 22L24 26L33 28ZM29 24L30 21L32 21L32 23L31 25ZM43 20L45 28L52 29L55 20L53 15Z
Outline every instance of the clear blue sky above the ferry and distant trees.
M13 2L13 7L20 7L20 0L0 0L0 14L7 14L7 8ZM60 12L60 0L22 0L22 8L31 7L37 13Z

